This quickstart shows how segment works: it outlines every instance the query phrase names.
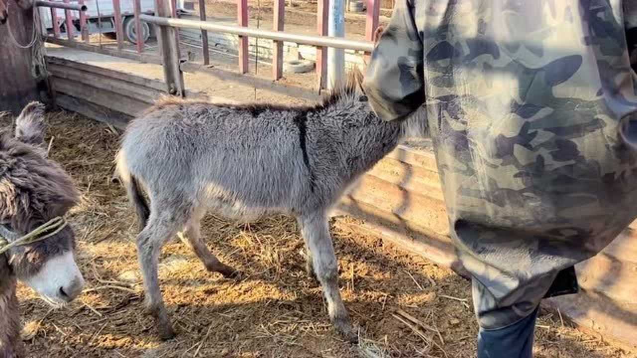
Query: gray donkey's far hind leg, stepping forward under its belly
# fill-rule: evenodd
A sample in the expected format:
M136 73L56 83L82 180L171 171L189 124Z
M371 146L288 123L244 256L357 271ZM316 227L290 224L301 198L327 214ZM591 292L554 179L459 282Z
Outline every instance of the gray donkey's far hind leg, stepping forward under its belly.
M186 224L185 230L177 233L177 236L179 236L185 245L189 246L192 251L195 252L208 271L218 272L226 278L236 278L240 276L239 271L219 261L217 257L210 252L206 243L201 240L201 218L204 213L205 211L203 210L197 210L190 218L188 224Z

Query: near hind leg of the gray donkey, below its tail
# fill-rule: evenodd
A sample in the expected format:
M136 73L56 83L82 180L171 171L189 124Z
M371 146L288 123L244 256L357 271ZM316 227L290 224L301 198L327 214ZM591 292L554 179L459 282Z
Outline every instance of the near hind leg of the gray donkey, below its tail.
M138 259L144 278L144 289L147 309L155 319L159 337L169 340L175 336L173 325L164 306L157 278L157 262L161 248L175 235L177 227L170 218L160 218L152 213L147 226L137 236Z

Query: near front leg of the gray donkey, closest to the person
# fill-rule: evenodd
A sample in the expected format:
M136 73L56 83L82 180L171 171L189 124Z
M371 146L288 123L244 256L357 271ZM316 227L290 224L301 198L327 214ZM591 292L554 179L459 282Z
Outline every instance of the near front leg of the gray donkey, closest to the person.
M358 336L352 329L350 316L338 290L338 261L334 255L327 216L321 211L304 215L298 220L301 224L301 234L310 248L314 272L323 287L329 318L346 340L355 343Z

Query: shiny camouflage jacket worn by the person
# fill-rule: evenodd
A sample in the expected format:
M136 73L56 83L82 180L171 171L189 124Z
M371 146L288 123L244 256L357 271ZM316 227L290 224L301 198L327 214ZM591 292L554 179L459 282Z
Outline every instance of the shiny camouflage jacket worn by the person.
M496 306L637 217L636 30L635 0L397 0L364 89L384 120L425 105L452 240Z

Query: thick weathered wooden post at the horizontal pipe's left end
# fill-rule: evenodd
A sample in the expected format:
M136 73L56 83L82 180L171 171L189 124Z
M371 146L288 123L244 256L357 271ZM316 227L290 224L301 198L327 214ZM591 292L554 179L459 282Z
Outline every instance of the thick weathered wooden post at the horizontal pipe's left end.
M155 14L158 17L171 17L169 0L155 0ZM185 94L183 85L183 73L180 66L179 43L173 27L158 26L157 35L161 48L162 64L164 65L164 78L168 87L168 93L173 96L183 97Z

